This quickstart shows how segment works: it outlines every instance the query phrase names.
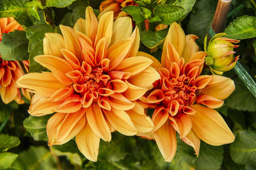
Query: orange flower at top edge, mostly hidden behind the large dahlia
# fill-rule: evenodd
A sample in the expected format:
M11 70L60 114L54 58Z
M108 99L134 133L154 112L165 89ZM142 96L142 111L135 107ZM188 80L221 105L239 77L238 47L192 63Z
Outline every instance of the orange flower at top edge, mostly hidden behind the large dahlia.
M108 11L114 12L114 18L128 16L121 9L125 6L137 5L133 0L105 0L100 3L100 14L98 18Z

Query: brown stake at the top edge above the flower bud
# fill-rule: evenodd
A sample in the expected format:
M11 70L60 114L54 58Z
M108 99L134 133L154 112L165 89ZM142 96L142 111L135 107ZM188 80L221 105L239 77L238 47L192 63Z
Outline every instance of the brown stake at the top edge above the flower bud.
M229 6L232 0L219 0L212 20L212 29L216 32L223 32L228 15Z

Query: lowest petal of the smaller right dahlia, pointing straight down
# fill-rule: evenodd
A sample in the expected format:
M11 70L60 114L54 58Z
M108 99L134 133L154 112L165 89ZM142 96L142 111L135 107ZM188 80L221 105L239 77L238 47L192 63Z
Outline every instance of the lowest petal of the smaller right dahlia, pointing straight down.
M172 127L171 121L168 120L153 133L156 144L164 157L165 162L172 162L172 159L177 150L177 140L175 130Z

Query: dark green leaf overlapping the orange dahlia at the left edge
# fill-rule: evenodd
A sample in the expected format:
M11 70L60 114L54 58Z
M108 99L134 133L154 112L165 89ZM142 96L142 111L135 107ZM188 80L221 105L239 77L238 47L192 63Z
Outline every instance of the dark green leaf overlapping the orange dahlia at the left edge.
M28 60L28 39L25 31L3 34L0 53L4 60Z

